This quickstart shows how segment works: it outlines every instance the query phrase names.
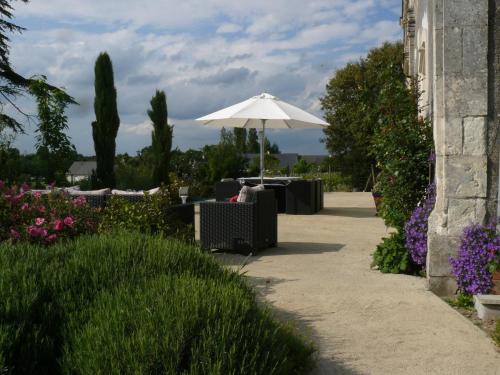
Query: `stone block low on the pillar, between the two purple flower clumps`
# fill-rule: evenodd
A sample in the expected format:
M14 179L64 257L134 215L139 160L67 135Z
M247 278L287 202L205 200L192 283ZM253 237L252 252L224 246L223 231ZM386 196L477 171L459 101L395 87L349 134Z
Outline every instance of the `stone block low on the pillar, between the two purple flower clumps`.
M429 228L431 231L432 228ZM427 239L427 275L429 277L451 277L450 257L456 256L460 237L438 235L429 232Z

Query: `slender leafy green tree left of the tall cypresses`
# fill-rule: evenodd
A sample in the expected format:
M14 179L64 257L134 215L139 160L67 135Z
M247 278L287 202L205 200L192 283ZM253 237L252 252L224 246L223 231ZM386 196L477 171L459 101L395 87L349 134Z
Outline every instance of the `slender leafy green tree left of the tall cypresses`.
M35 80L30 85L38 105L38 129L36 150L45 161L46 181L64 180L69 165L65 163L76 154L75 146L65 131L68 130L68 118L65 110L68 105L66 94L62 90L47 90L45 77Z

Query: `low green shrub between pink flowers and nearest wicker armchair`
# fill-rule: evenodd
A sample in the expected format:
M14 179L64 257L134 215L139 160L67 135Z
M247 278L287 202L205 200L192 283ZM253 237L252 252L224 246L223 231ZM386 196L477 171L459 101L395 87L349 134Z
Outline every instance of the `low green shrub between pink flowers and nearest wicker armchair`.
M177 186L172 184L169 187L172 190L162 188L155 194L146 194L136 202L112 196L101 212L99 231L137 231L191 240L194 228L186 227L176 219L171 210L173 204L180 203L178 190L174 190Z

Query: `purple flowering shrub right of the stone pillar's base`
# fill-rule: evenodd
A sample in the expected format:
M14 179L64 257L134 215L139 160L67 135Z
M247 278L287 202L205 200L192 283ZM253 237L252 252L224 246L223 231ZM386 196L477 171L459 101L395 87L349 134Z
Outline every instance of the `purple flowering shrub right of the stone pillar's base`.
M496 225L470 225L464 229L456 258L450 258L452 272L462 293L485 294L492 287L490 266L498 263L500 237Z

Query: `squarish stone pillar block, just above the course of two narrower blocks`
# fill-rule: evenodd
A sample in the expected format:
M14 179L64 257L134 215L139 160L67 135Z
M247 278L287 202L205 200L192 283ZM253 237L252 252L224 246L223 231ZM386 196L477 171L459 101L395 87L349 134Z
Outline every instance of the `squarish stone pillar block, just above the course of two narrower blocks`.
M473 76L455 73L445 74L444 100L446 118L487 116L487 87L487 72L477 72Z

